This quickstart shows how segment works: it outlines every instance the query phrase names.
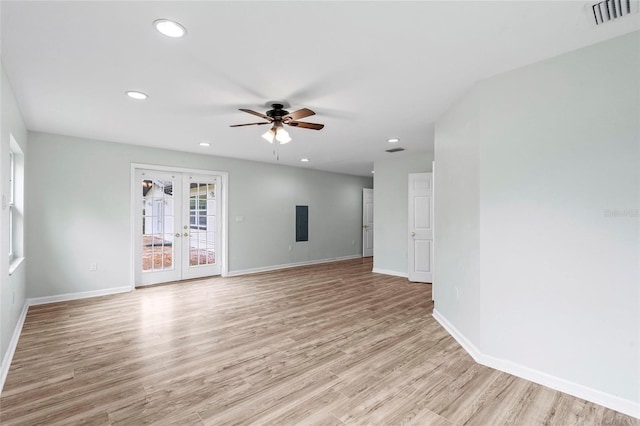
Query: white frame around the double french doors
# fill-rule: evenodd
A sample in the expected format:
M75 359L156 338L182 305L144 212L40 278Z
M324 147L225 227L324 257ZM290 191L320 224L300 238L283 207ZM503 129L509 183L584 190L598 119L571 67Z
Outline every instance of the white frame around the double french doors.
M211 176L219 176L220 177L220 202L222 203L220 208L220 275L223 277L229 276L229 265L228 265L228 256L227 249L229 246L228 241L228 217L229 217L229 203L228 201L228 187L229 187L229 173L228 172L220 172L214 170L203 170L203 169L190 169L185 167L172 167L172 166L159 166L156 164L146 164L146 163L131 163L130 170L130 204L129 204L129 286L131 290L135 290L136 288L136 214L138 213L136 206L136 191L138 190L138 185L136 182L136 170L145 169L145 170L156 170L159 172L169 172L169 173L193 173L199 175L211 175Z

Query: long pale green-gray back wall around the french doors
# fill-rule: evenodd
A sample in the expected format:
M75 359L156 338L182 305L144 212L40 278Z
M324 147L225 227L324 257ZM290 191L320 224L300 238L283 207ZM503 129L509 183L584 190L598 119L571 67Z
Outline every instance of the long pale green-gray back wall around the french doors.
M43 133L29 143L29 297L130 284L131 163L229 173L230 273L362 253L370 178ZM295 242L296 204L309 206L308 242Z

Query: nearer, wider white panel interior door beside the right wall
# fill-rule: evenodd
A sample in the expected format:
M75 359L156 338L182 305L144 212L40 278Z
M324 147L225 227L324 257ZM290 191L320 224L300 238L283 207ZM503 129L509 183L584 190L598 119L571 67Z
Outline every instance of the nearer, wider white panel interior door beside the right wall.
M433 186L431 173L409 174L409 281L433 280Z

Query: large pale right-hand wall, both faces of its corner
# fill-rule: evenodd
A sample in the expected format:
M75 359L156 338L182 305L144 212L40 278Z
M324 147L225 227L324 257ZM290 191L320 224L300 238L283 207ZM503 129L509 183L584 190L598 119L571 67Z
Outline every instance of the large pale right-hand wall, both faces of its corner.
M435 135L437 314L485 360L635 415L639 52L636 32L483 81Z

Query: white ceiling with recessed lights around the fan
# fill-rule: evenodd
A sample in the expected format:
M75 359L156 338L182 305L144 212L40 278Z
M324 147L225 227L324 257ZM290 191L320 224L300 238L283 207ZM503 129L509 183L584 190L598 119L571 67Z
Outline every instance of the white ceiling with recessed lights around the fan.
M589 4L2 1L1 53L30 130L276 162L266 126L229 125L282 100L325 128L289 128L280 164L370 176L433 150L433 122L478 80L640 29L596 27Z

